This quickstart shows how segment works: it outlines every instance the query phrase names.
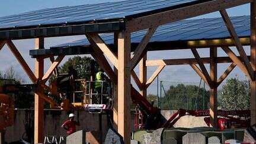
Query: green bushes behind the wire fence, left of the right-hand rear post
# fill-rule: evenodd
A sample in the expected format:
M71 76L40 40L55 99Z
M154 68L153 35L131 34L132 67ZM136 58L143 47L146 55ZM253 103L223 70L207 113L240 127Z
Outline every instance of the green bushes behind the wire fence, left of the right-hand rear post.
M209 95L209 91L196 85L178 84L176 87L172 85L166 91L166 95L161 98L161 109L178 110L185 108L189 110L206 110L208 108Z

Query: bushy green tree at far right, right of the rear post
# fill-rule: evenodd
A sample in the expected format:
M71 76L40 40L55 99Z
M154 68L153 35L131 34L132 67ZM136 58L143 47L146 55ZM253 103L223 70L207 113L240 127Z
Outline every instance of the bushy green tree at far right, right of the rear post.
M248 110L249 91L248 81L240 81L238 78L228 79L220 92L222 109Z

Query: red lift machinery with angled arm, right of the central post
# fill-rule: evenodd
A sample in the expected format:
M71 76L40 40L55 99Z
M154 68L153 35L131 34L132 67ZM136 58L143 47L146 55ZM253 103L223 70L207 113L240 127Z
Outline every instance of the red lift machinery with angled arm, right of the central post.
M210 111L209 110L184 110L180 109L175 114L173 114L169 120L165 120L160 109L153 107L152 104L142 97L142 95L132 87L131 92L132 101L136 104L142 114L145 117L144 129L158 129L160 127L170 128L183 116L190 115L196 117L204 117L204 121L208 126L210 126ZM232 111L223 111L218 110L218 128L220 130L229 129L229 128L239 128L239 127L249 127L250 126L250 111L249 110L232 110ZM135 120L141 121L141 120ZM138 123L135 123L137 126ZM140 123L141 125L141 123Z

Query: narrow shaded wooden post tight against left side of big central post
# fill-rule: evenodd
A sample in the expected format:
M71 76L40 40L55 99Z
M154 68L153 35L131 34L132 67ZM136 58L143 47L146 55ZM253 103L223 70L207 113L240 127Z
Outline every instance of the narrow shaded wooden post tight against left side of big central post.
M118 57L118 35L119 33L115 32L114 33L114 46L116 48L116 56ZM116 66L114 66L114 73L116 74L116 76L118 75L118 70L116 68ZM115 78L117 79L117 78ZM113 105L113 127L115 130L117 130L118 127L118 84L117 81L113 81L113 97L114 97L114 105Z

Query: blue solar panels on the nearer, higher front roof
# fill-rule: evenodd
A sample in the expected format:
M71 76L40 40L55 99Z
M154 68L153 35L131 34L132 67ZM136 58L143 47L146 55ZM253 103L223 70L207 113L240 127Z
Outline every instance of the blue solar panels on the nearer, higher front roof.
M188 2L196 2L196 0L127 0L72 7L47 8L0 17L0 29L124 18L129 15L173 7Z

